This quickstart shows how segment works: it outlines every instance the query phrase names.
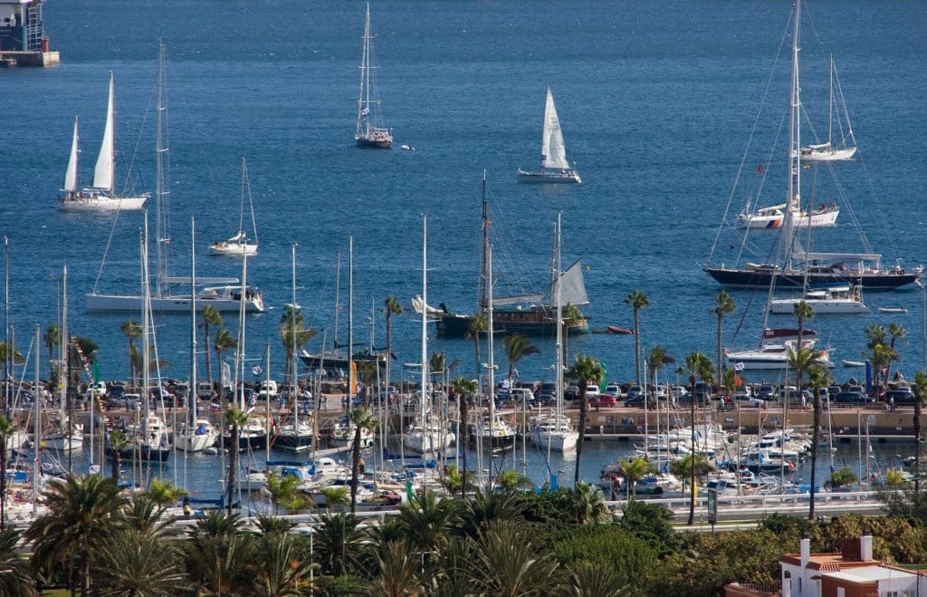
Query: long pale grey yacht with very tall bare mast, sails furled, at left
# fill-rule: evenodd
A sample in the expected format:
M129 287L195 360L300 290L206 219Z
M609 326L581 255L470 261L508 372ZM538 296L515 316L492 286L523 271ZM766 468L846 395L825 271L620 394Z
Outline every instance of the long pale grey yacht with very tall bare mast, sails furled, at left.
M193 286L192 279L189 277L171 277L168 275L168 249L171 246L171 230L168 222L170 218L167 215L169 210L170 197L170 177L168 175L169 148L165 145L168 134L164 131L167 124L167 105L164 91L164 46L161 45L159 52L159 70L158 70L158 134L155 146L155 163L157 165L157 177L155 187L155 236L158 239L155 253L156 267L158 273L155 276L155 293L149 298L149 308L151 311L177 311L187 312L190 310L190 302L193 300L192 291L197 289ZM143 298L139 295L104 295L97 291L100 273L97 274L94 288L86 296L87 311L139 311L143 307ZM197 292L197 304L202 310L206 305L210 305L216 311L238 311L241 305L241 299L245 299L245 308L248 312L264 311L264 302L260 291L257 288L245 286L238 282L238 278L197 278L197 285L220 285L205 286ZM177 286L189 286L191 292L178 293Z

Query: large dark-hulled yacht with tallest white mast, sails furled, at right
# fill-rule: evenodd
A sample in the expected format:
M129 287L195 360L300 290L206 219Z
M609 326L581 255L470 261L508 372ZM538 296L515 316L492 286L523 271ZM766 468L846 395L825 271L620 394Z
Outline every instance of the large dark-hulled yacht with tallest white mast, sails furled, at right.
M794 48L792 62L792 105L790 107L789 120L789 189L786 201L783 206L777 206L782 210L782 225L779 235L779 255L778 259L772 262L746 262L743 265L728 266L724 263L720 265L709 262L703 265L705 273L714 278L723 286L730 287L770 287L778 286L780 288L805 288L809 286L849 286L858 285L867 289L894 289L900 286L914 284L914 282L923 273L923 266L918 265L914 268L904 268L900 265L894 267L883 267L881 264L882 255L878 253L845 253L845 252L823 252L810 251L802 248L795 238L795 230L803 222L808 227L811 225L813 218L811 213L805 213L801 210L802 197L799 193L798 179L804 168L806 160L805 152L799 150L800 143L800 119L802 116L802 106L798 101L798 37L800 23L800 7L795 9L794 22ZM820 208L819 208L820 209ZM828 211L828 206L820 211L821 218L836 218L836 211ZM830 215L827 215L830 213ZM804 218L804 219L803 219ZM716 235L715 246L718 246L718 239L725 224L722 222L722 228ZM747 228L752 226L748 225ZM743 245L746 245L746 236L743 236ZM863 239L865 245L868 242ZM714 248L712 249L714 253Z

